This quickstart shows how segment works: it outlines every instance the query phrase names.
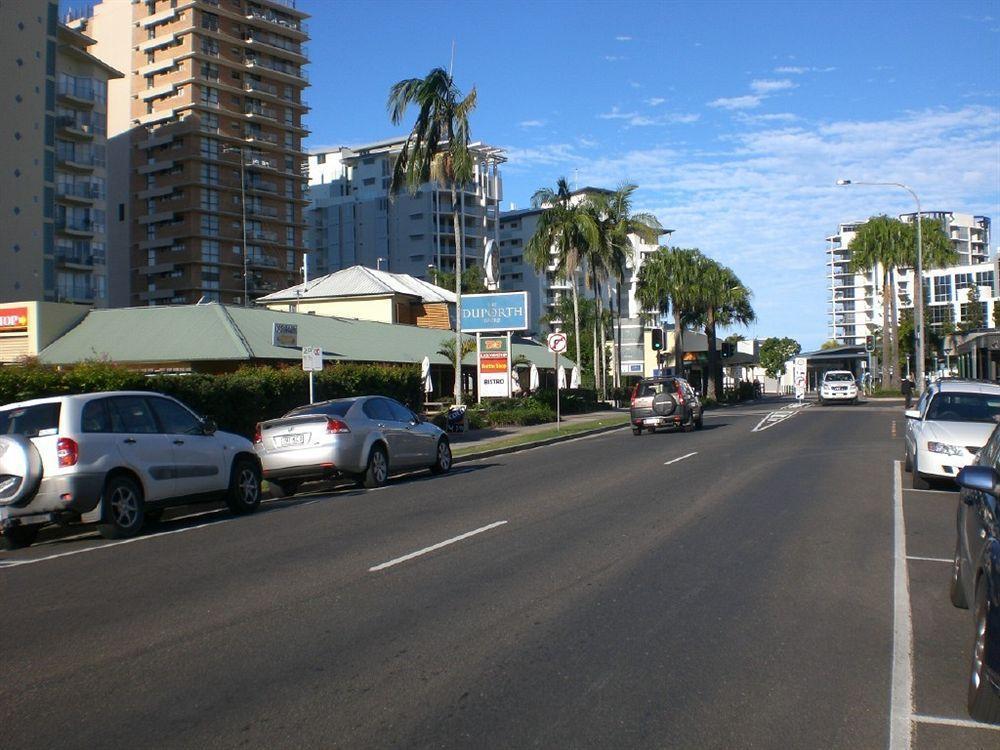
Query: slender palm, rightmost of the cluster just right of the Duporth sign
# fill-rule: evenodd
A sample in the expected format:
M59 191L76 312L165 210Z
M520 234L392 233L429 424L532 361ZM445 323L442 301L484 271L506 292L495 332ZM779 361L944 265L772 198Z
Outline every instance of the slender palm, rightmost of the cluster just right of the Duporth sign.
M622 283L625 281L625 268L629 260L635 262L635 250L629 235L636 235L643 242L653 243L663 233L663 226L653 214L632 213L632 194L638 190L637 185L622 183L610 195L598 194L591 200L598 216L598 229L601 235L600 253L601 268L605 280L610 283L615 280L617 297L617 346L614 347L614 384L621 382L621 310ZM601 331L601 351L604 351L604 331Z

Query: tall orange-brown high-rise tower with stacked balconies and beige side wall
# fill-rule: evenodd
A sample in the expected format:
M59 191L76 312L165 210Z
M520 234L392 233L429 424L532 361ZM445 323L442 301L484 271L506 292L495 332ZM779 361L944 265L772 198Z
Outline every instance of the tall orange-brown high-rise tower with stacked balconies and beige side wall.
M298 280L304 18L293 0L104 0L81 22L96 55L128 61L111 221L131 304L246 303Z

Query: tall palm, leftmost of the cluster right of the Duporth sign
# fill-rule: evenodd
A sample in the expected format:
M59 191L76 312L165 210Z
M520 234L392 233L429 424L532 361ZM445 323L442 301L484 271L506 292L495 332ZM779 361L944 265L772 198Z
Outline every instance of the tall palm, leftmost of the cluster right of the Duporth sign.
M533 206L547 206L538 217L535 234L524 248L525 259L540 273L553 265L555 275L570 285L573 295L573 330L576 363L580 364L580 301L577 268L584 248L600 242L597 224L581 203L571 200L569 183L560 177L555 190L540 188L531 197Z

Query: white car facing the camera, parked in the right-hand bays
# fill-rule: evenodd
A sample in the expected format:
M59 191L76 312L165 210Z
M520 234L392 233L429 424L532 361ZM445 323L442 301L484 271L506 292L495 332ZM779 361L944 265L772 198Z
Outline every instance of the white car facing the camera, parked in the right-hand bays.
M906 411L906 470L913 487L929 479L954 481L976 458L1000 422L1000 386L974 380L933 383Z

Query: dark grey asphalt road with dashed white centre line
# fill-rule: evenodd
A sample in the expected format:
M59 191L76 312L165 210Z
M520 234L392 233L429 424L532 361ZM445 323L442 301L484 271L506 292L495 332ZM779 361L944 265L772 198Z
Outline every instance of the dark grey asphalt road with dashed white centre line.
M887 747L902 410L768 411L3 553L3 744ZM954 494L917 497L946 558ZM919 564L913 746L995 748Z

